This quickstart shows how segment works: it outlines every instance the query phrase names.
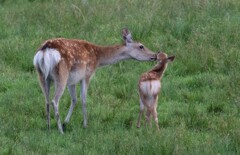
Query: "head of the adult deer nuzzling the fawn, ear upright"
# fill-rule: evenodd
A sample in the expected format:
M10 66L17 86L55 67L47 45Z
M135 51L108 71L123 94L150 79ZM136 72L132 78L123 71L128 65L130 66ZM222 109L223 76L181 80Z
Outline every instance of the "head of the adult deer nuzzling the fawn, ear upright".
M124 54L136 60L156 60L156 54L139 42L132 39L132 35L127 28L122 30L122 37L125 45Z

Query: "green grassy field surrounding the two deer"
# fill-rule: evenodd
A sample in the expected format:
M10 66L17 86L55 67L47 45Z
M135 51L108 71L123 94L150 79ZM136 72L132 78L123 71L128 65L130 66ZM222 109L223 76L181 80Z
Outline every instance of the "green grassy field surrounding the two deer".
M87 129L78 98L66 133L53 109L48 131L37 48L55 37L119 44L123 27L176 55L163 77L161 132L136 128L137 81L155 63L133 60L95 73ZM240 154L239 41L239 0L0 0L0 154ZM65 91L62 121L69 106Z

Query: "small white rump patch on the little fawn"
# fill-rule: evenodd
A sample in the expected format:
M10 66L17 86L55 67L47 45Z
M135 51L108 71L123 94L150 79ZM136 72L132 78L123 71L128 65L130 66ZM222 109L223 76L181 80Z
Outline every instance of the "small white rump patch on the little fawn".
M147 95L148 97L158 94L160 88L161 88L161 83L160 81L157 81L157 80L143 81L140 83L140 89L142 93Z

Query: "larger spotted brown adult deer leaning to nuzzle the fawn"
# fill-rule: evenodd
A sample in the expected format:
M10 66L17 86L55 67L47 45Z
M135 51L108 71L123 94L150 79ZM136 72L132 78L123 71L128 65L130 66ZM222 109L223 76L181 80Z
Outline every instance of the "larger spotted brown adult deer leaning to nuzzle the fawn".
M139 42L132 40L128 29L122 30L124 43L115 46L98 46L84 40L57 38L47 40L37 50L33 64L39 76L40 86L46 100L47 126L50 128L51 81L55 84L52 100L58 129L69 122L73 108L77 102L76 84L81 81L81 100L84 116L83 125L87 127L86 98L90 78L98 67L114 64L120 60L136 59L140 61L156 60L156 54ZM71 96L71 106L62 126L58 105L65 87Z

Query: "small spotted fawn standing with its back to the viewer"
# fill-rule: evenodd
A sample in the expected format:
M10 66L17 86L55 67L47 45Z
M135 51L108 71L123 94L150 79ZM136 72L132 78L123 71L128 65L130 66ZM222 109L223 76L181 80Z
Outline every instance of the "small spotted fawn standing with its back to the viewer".
M168 57L166 53L160 52L157 54L157 65L149 72L143 73L138 82L138 90L140 95L140 112L137 122L137 127L141 126L141 117L146 107L146 122L150 122L150 117L152 115L157 129L158 117L157 117L157 103L158 94L161 90L161 79L163 77L164 71L167 68L168 62L172 62L175 56Z

